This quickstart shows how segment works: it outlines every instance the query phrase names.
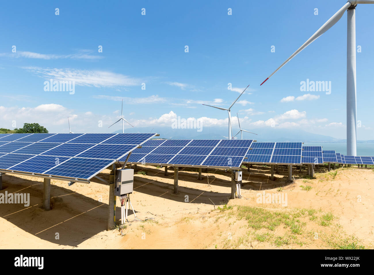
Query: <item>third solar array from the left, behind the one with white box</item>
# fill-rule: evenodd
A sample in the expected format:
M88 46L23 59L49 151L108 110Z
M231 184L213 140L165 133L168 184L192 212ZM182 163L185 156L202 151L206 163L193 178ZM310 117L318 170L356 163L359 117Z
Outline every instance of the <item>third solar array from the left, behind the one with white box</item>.
M245 163L301 164L302 142L254 142Z

